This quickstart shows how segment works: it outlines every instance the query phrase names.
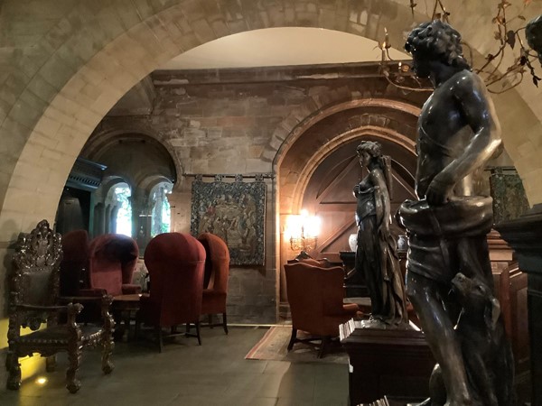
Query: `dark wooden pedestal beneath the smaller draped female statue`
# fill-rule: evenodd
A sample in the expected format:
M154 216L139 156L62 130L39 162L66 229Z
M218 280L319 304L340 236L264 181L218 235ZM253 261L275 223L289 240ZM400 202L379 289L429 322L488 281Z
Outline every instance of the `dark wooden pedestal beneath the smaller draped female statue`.
M385 395L403 404L428 397L435 358L421 331L367 328L363 320L351 319L341 325L341 344L350 358L350 406Z

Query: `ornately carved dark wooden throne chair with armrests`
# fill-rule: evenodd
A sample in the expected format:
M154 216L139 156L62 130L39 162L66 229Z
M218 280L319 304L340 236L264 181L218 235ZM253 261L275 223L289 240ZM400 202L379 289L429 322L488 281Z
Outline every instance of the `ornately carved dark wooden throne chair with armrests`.
M72 393L79 390L77 371L83 347L102 346L102 370L113 370L109 357L113 351L113 318L108 313L110 296L94 298L59 297L61 235L53 233L49 223L42 220L29 235L20 235L10 275L8 350L5 366L7 388L21 386L19 357L38 353L47 357L47 371L54 370L55 354L67 351L70 365L66 372L66 387ZM79 303L72 303L77 300ZM79 325L76 316L83 309L80 302L101 301L103 325ZM62 305L62 303L67 303ZM64 319L67 322L61 322ZM47 323L41 328L42 323ZM21 335L21 328L33 332Z

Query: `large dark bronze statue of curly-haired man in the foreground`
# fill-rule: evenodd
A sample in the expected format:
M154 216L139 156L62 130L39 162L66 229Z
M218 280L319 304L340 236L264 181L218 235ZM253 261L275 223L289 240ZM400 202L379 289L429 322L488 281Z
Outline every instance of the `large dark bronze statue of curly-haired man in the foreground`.
M473 389L453 327L459 305L449 296L462 272L491 289L486 234L491 198L473 196L472 173L500 148L500 125L488 92L463 58L461 35L435 20L409 33L405 49L416 76L435 91L418 120L416 196L399 208L408 231L406 292L442 369L445 405L489 404ZM499 403L504 406L504 403Z

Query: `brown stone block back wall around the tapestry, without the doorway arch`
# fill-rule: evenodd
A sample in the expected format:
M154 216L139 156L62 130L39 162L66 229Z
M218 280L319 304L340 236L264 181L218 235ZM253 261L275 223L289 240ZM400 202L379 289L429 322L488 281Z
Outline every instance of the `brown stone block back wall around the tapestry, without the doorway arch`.
M376 67L367 77L360 75L369 72L365 68L342 67L339 73L337 69L158 71L151 77L156 98L150 114L106 116L90 137L90 144L99 143L101 135L122 134L125 129L151 135L166 146L182 171L169 195L174 231L190 232L192 175L273 175L266 179L266 264L230 270L229 322L276 322L280 261L273 171L285 138L322 107L356 98L391 97L385 81L375 80ZM119 110L122 106L115 109ZM89 143L83 152L92 149Z

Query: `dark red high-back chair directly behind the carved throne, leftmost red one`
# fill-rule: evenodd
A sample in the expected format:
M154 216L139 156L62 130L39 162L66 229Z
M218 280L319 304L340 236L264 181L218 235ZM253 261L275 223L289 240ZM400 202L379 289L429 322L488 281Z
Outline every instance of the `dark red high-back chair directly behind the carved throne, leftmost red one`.
M77 296L89 284L89 233L73 230L62 236L61 295Z

